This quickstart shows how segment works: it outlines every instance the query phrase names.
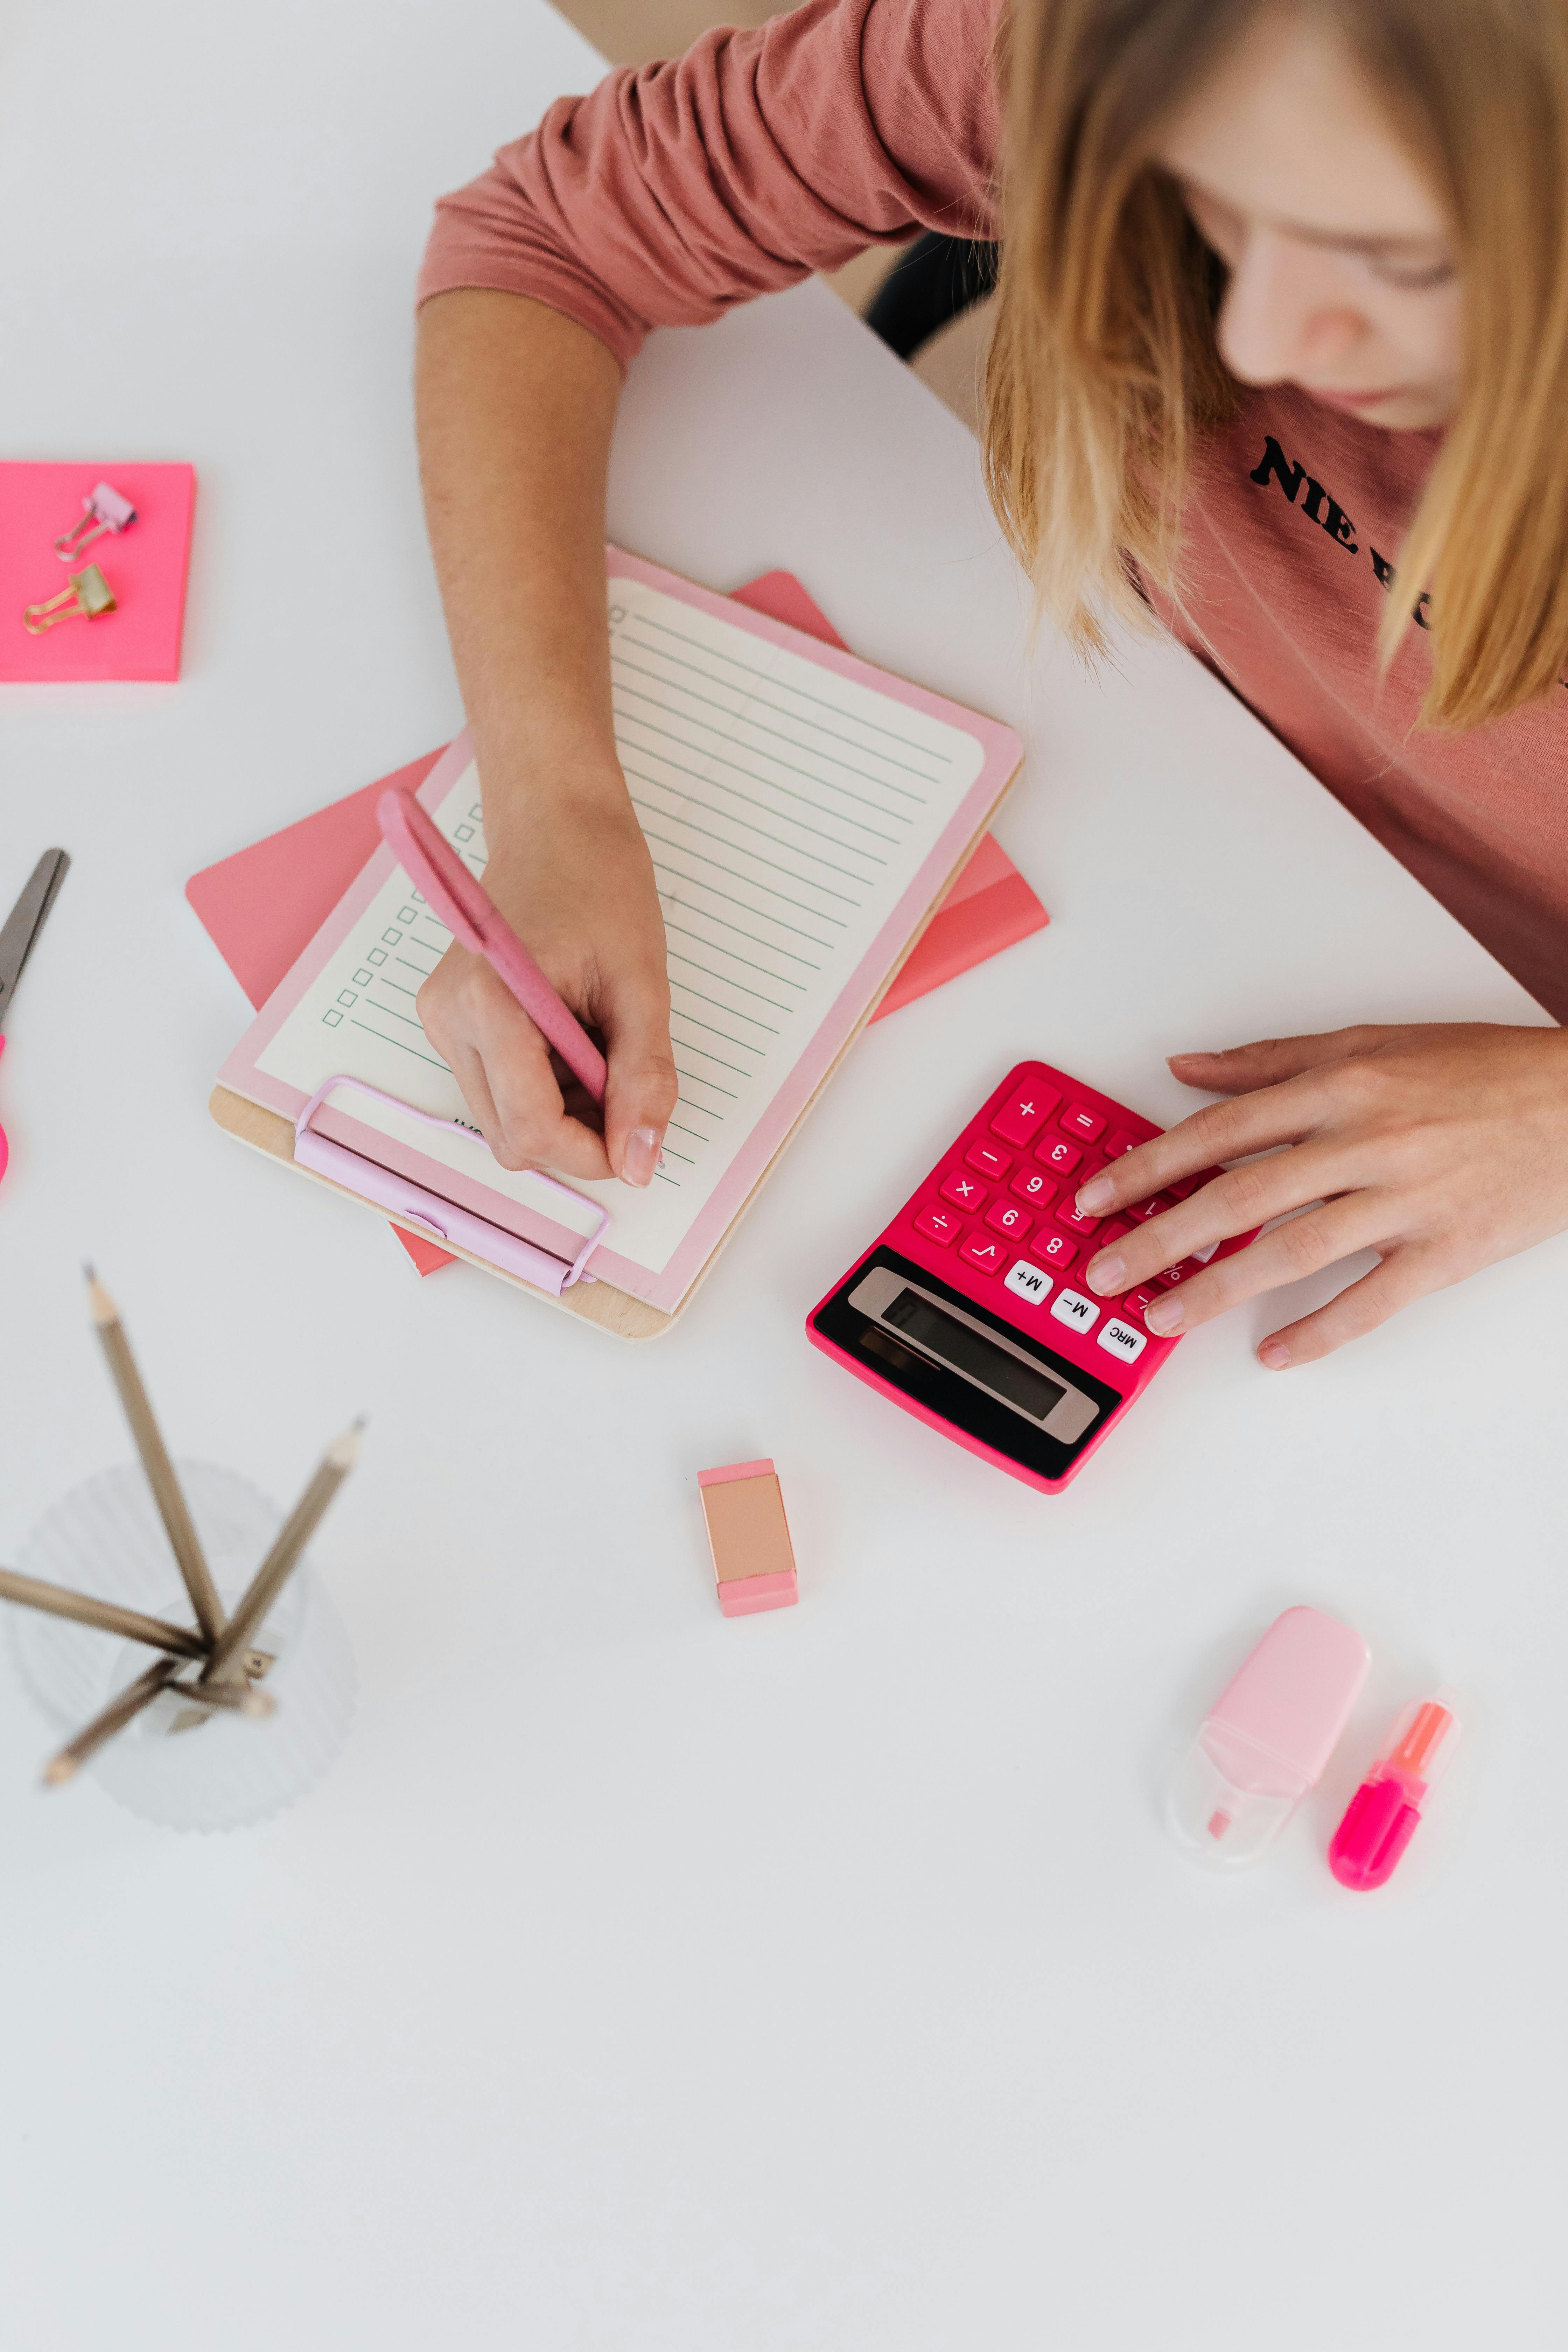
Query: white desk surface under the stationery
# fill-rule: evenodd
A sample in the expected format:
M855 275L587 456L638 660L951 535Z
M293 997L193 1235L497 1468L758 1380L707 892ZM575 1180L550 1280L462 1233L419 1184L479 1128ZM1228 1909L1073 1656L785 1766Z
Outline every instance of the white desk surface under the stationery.
M360 1719L294 1813L45 1799L0 1679L0 2340L1542 2345L1566 1247L1286 1378L1251 1357L1281 1301L1239 1312L1058 1501L802 1336L1016 1056L1175 1117L1175 1047L1537 1014L1185 656L1027 668L973 445L832 296L649 348L614 529L712 586L790 564L1023 724L999 835L1051 929L856 1047L651 1350L416 1282L207 1122L247 1014L186 875L458 724L407 395L428 202L595 71L538 0L0 33L0 447L200 475L186 680L0 694L0 906L75 858L0 1063L0 1557L127 1454L85 1254L179 1451L287 1501L371 1416L315 1545ZM755 1454L802 1606L726 1623L696 1470ZM1366 1703L1215 1884L1164 1759L1295 1599L1366 1632ZM1441 1677L1450 1788L1347 1896L1328 1830Z

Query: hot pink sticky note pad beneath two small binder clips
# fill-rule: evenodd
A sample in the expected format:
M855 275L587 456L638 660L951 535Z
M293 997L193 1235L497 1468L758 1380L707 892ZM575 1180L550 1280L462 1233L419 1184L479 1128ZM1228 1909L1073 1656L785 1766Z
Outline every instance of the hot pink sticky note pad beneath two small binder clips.
M82 520L82 499L96 482L122 492L136 520L118 534L103 532L63 564L54 541ZM0 463L0 680L179 677L193 515L193 466ZM24 609L47 604L85 564L99 567L115 609L99 621L61 621L33 637Z

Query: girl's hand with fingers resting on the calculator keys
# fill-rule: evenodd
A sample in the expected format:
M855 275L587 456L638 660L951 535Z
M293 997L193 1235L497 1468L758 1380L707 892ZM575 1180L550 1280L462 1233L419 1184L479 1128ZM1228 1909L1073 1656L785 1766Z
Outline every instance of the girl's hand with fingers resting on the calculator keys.
M1145 1322L1161 1338L1375 1249L1371 1275L1262 1341L1258 1359L1284 1371L1568 1228L1568 1033L1559 1028L1347 1028L1173 1054L1171 1070L1234 1101L1194 1110L1112 1162L1079 1190L1079 1209L1107 1216L1218 1162L1248 1164L1091 1258L1088 1287L1119 1296L1213 1242L1291 1221L1150 1305Z

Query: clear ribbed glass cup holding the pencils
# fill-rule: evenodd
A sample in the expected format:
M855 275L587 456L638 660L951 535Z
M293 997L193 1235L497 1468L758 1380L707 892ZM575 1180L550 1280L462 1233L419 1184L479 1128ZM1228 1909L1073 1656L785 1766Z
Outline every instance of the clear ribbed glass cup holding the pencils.
M219 1599L233 1609L270 1550L282 1512L233 1470L179 1463L176 1475ZM16 1566L24 1576L190 1625L169 1538L134 1463L61 1496L28 1536ZM92 1722L158 1656L141 1642L38 1609L7 1606L5 1618L21 1682L61 1738ZM197 1710L167 1691L82 1769L132 1813L169 1830L240 1830L294 1804L339 1755L355 1710L348 1635L308 1557L249 1646L270 1656L259 1689L275 1700L273 1715L252 1722L230 1710Z

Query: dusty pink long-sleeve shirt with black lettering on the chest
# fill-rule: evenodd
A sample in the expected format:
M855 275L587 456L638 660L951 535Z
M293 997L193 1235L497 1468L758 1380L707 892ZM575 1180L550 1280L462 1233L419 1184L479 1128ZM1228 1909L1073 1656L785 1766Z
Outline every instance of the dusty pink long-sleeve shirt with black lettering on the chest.
M625 365L914 228L994 238L994 0L806 0L762 31L559 99L442 198L421 301L531 294ZM1415 729L1427 654L1387 680L1385 581L1439 435L1293 388L1246 393L1182 517L1164 619L1547 1011L1568 1018L1568 708Z

